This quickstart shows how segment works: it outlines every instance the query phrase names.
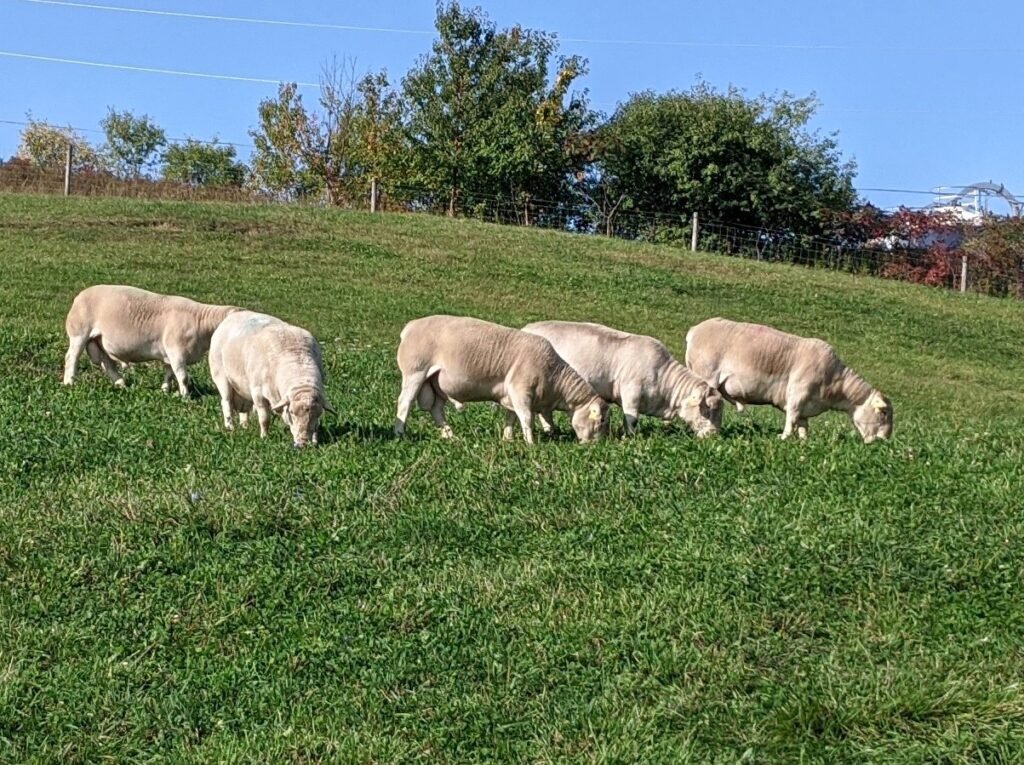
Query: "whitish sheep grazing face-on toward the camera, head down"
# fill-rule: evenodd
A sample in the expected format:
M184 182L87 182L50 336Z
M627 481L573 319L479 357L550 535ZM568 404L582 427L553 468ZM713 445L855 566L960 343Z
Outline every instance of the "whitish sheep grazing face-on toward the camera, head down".
M334 414L324 391L319 344L305 330L265 313L240 310L221 323L210 342L210 375L227 430L234 412L245 427L255 409L265 437L273 413L301 448L317 442L321 415Z

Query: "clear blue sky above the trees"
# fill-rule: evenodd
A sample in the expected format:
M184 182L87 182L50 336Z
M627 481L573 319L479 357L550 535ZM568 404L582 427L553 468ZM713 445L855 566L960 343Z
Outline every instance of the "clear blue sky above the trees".
M76 0L77 2L77 0ZM89 0L83 0L83 3ZM36 119L98 131L108 107L147 114L173 137L251 143L260 99L276 81L315 83L325 60L350 57L392 81L427 52L434 3L269 0L95 0L76 7L0 0L0 121ZM1024 198L1024 3L988 0L482 0L501 27L558 35L562 53L590 61L582 85L610 113L629 93L689 87L699 75L749 94L817 93L814 127L839 132L856 185L883 207L925 205L928 190L992 180ZM128 13L278 19L257 25ZM374 28L377 31L341 29ZM12 57L16 53L269 80L202 79ZM306 88L305 98L315 97ZM0 122L0 156L19 125ZM85 133L94 141L101 136ZM240 155L249 150L240 147ZM994 211L1002 211L998 205Z

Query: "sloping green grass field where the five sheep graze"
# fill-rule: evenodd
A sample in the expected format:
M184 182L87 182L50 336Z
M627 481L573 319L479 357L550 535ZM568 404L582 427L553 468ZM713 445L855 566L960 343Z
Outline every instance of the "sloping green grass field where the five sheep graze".
M426 216L0 196L0 762L1024 760L1024 306ZM205 393L59 385L127 283L321 340L319 449ZM581 445L391 437L398 332L712 315L831 341L865 447L728 410ZM564 425L566 420L562 418ZM621 428L615 413L613 427Z

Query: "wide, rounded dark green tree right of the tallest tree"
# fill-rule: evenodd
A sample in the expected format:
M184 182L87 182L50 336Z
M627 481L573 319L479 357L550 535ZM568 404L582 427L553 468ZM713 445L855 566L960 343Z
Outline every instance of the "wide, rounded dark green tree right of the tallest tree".
M600 174L634 208L818 235L856 201L835 135L808 132L815 97L746 98L698 82L633 95L600 128Z

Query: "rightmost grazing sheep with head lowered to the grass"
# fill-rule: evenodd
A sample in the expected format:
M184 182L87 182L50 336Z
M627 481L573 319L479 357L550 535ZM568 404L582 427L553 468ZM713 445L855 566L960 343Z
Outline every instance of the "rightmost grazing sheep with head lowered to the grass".
M831 410L850 415L865 443L892 435L892 401L823 340L709 318L686 333L686 364L740 412L748 403L784 412L781 438L794 428L806 438L808 419Z

